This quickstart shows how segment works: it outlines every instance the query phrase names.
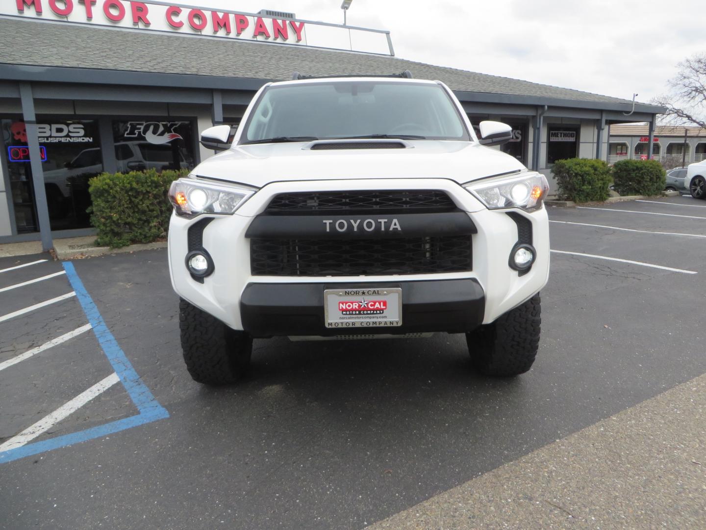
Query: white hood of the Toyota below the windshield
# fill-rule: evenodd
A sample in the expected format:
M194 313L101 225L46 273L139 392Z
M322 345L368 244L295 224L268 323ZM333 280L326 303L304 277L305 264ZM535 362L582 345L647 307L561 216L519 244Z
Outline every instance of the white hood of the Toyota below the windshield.
M407 148L317 149L309 142L234 146L192 175L261 188L291 180L446 178L459 184L524 170L514 157L467 141L405 141Z

